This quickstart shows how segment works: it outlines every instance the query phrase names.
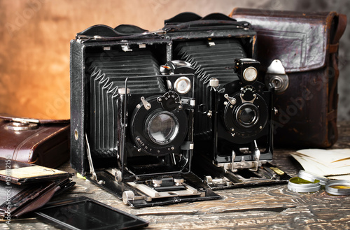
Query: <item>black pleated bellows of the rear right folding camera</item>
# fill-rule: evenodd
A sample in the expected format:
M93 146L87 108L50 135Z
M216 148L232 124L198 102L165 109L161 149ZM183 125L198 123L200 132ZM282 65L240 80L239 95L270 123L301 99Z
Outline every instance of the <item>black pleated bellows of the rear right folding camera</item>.
M232 65L237 58L248 57L238 39L212 39L215 45L208 45L208 41L187 41L179 43L174 49L174 55L189 62L195 68L196 80L195 98L202 113L197 113L195 122L195 136L209 138L211 124L207 122L207 113L211 108L209 80L216 78L221 85L238 80Z

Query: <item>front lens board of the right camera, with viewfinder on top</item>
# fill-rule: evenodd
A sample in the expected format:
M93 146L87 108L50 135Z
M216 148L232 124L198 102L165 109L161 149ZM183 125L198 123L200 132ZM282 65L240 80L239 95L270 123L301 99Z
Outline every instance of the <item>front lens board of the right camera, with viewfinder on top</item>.
M258 171L272 160L273 87L258 82L259 62L236 59L237 80L220 86L211 79L214 100L214 164L232 172L241 168Z

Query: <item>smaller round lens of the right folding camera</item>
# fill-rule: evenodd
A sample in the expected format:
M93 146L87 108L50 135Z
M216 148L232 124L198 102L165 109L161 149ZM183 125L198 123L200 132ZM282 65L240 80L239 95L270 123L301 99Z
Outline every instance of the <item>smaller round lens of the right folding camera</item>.
M252 103L244 103L237 109L236 119L241 126L251 127L258 122L259 110Z

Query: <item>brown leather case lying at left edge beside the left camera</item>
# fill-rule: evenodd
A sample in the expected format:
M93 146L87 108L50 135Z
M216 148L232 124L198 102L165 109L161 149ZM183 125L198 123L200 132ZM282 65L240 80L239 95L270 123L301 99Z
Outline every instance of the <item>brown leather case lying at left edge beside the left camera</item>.
M0 119L0 157L49 168L69 160L69 120Z

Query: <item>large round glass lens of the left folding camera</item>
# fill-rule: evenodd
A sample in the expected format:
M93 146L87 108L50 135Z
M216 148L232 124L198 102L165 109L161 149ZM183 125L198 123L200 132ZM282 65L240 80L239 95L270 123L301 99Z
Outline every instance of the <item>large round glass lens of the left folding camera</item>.
M179 132L179 122L172 113L162 111L153 115L148 123L148 135L157 144L165 145Z

